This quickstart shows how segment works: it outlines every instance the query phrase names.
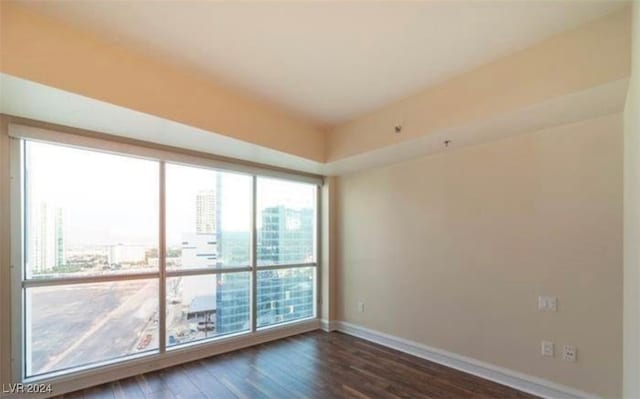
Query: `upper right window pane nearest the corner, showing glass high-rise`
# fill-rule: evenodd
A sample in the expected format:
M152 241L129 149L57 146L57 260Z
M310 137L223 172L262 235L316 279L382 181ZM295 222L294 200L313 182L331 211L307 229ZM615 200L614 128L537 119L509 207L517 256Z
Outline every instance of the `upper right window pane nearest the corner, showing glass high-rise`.
M315 261L316 186L258 179L258 265Z

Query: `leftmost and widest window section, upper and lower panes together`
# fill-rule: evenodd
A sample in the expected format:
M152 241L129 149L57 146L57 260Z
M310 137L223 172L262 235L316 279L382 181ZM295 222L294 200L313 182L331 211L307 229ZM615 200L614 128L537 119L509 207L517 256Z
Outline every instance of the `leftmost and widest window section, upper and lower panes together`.
M25 376L157 350L159 162L23 155Z

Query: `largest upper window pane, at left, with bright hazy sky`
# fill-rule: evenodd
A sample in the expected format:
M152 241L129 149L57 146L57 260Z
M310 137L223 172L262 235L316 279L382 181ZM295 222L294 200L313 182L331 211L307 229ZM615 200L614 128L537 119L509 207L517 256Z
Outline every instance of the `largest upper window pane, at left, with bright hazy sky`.
M26 141L27 278L154 271L158 162Z

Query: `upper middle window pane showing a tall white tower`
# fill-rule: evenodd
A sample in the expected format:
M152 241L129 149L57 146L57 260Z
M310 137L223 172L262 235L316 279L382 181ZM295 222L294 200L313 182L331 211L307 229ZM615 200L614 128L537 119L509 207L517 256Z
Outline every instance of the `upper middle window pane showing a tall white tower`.
M248 266L251 177L166 167L167 268Z

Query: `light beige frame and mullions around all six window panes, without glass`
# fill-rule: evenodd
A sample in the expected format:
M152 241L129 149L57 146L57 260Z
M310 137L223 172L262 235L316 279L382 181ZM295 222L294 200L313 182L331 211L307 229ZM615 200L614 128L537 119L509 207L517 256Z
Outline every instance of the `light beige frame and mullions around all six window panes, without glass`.
M60 129L65 130L65 129ZM95 137L93 132L78 132L73 129L72 133L66 131L58 131L58 129L49 130L39 127L32 127L28 124L9 123L9 155L10 155L10 230L11 230L11 298L13 302L11 311L11 361L12 361L12 380L14 382L42 382L54 381L59 377L74 377L82 374L96 374L111 368L126 367L128 364L134 364L139 361L152 362L170 362L171 355L175 352L180 356L185 352L189 352L191 348L203 348L214 346L225 346L227 342L235 342L238 339L251 340L253 336L265 335L268 332L263 330L277 330L288 325L302 326L310 320L318 321L321 314L321 276L320 276L320 249L321 238L321 187L323 178L321 176L308 175L304 173L296 173L295 171L279 170L278 168L270 168L268 166L260 167L255 164L247 164L243 161L234 163L227 158L219 157L189 151L180 148L166 147L155 145L153 143L135 142L118 138L116 136ZM83 134L85 133L85 134ZM26 233L27 226L25 224L26 209L24 207L25 200L25 173L24 173L24 151L25 141L45 142L53 145L61 145L71 148L78 148L88 151L97 151L120 155L125 157L148 159L158 162L159 171L159 237L158 237L158 258L159 266L157 271L139 272L139 273L123 273L114 275L97 275L97 276L70 276L51 279L27 279L24 270L25 266L25 250L26 250ZM166 267L166 165L177 164L189 167L205 168L219 172L232 172L236 174L245 174L251 176L252 179L252 209L251 209L251 232L250 232L250 264L248 266L228 267L228 268L212 268L212 269L173 269L168 270ZM281 179L285 181L295 181L301 183L312 184L315 186L315 237L314 237L314 262L304 264L282 264L258 266L257 259L257 180L259 177L267 177L270 179ZM313 267L314 268L314 289L313 289L313 308L312 317L302 318L283 323L276 323L269 326L257 327L257 272L259 270L269 269L292 269L297 267ZM166 281L167 278L180 276L197 276L197 275L218 275L226 273L249 272L250 275L250 328L244 332L225 334L221 336L206 338L193 342L185 342L179 345L169 347L167 343L166 330ZM91 363L88 365L73 367L69 369L56 370L43 374L27 376L26 365L26 289L29 287L55 286L63 284L83 284L111 281L131 281L137 279L157 279L158 281L158 337L159 345L157 349L149 351L116 357L114 359ZM262 334L265 333L265 334ZM255 339L255 338L253 338Z

